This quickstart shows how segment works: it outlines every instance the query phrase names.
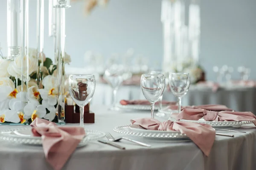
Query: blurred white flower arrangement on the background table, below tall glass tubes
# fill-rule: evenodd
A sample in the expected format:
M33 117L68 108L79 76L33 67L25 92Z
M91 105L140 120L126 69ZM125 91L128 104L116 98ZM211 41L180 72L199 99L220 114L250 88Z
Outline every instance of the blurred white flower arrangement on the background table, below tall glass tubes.
M172 70L174 72L189 73L191 84L196 84L199 81L205 81L204 69L200 65L195 63L195 61L192 58L189 58L181 62L179 64L179 68L178 68L178 64L174 63L172 66Z

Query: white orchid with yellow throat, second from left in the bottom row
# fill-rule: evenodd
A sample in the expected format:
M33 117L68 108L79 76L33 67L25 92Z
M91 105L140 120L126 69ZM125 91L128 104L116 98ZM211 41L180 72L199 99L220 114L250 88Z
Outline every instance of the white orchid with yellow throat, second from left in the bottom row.
M32 102L24 107L24 118L31 118L34 121L35 118L43 118L46 115L46 108L39 103L37 106L35 104L36 102Z

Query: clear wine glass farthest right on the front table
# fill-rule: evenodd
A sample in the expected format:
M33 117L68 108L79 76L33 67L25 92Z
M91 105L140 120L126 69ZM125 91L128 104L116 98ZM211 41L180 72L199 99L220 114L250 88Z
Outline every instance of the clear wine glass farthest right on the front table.
M178 98L178 113L181 110L181 98L188 92L189 85L189 73L170 73L169 86L172 93Z

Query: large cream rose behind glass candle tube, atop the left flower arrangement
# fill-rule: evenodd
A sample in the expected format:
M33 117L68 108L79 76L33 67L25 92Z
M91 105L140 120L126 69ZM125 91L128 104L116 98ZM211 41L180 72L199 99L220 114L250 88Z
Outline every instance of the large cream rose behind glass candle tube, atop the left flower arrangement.
M23 63L26 62L26 56L25 57L21 57L18 56L15 58L14 61L12 61L9 66L8 66L8 72L10 75L16 77L16 78L21 78L21 61L23 60ZM37 60L36 58L29 58L29 75L32 72L35 72L37 69ZM26 67L23 69L23 75L26 76L27 71L26 71Z

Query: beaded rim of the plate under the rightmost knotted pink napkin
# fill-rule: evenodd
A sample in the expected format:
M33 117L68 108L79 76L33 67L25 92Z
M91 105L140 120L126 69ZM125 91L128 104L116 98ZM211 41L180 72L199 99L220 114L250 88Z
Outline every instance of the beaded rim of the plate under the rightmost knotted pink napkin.
M169 121L177 121L175 118L169 118ZM186 120L179 120L179 121L186 121ZM190 121L193 123L200 123L200 124L209 124L211 126L222 126L222 127L237 127L241 126L243 124L251 124L253 123L252 121Z

